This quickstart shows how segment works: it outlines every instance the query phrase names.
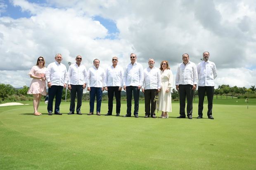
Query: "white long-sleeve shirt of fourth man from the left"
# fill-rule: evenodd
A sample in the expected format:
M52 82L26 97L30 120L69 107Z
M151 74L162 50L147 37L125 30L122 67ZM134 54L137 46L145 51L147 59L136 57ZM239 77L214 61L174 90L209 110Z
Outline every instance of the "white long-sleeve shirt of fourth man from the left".
M106 86L119 86L123 87L123 68L119 65L116 65L114 68L113 65L107 68L106 71Z

